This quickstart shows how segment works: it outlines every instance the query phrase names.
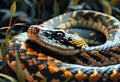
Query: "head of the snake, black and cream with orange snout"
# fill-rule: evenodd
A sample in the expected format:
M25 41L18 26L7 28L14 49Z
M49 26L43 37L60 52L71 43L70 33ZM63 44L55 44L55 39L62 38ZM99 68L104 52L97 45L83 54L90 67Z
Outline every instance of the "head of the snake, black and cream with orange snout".
M83 38L69 34L49 25L31 25L28 29L30 40L61 55L75 55L87 47Z

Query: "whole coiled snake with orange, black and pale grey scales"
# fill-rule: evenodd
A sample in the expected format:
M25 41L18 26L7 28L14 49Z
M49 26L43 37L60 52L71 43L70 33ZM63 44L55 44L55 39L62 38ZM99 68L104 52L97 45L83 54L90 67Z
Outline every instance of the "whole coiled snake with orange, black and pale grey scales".
M84 37L65 31L70 28L97 30L106 41L89 46ZM16 72L18 55L28 82L120 81L120 22L98 11L71 11L30 25L6 49L7 64Z

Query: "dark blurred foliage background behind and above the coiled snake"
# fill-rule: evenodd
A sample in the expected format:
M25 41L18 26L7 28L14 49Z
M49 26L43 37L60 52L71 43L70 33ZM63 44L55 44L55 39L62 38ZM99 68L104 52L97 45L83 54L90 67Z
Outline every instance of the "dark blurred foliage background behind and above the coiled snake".
M27 31L31 24L40 24L74 10L100 11L120 20L120 0L0 0L0 44L5 37L8 40L12 34ZM4 55L5 47L1 45L0 56ZM1 65L0 61L0 69ZM3 78L14 80L0 74L0 81L5 81Z

